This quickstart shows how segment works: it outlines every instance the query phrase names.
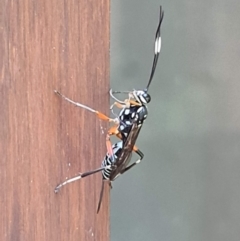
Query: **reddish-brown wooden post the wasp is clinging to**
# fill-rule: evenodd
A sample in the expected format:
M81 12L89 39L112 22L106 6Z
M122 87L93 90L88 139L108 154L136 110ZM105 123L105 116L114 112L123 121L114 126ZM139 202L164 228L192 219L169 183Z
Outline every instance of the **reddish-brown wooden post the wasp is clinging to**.
M96 213L109 109L109 0L0 3L0 239L109 240L109 189Z

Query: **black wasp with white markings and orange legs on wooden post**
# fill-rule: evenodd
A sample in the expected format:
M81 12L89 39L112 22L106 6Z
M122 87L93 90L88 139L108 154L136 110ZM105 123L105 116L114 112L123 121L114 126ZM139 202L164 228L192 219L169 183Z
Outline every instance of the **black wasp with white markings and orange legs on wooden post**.
M148 114L146 104L149 103L151 100L151 97L148 94L148 89L151 84L152 78L154 76L154 72L158 61L158 56L161 49L160 27L163 20L163 16L164 16L163 11L160 6L159 24L158 24L156 36L155 36L155 52L154 52L153 65L152 65L150 78L146 88L144 90L133 90L133 91L122 91L122 92L110 90L110 96L114 100L116 100L116 102L110 107L112 113L115 116L117 116L113 112L114 106L122 108L122 110L120 111L119 115L116 118L110 118L104 115L103 113L97 110L94 110L86 105L72 101L71 99L62 95L57 90L54 91L56 94L61 96L66 101L78 107L84 108L90 112L95 113L99 119L106 120L115 124L108 130L108 133L107 133L107 137L106 137L107 155L102 161L101 167L89 172L79 174L76 177L66 180L65 182L59 184L55 188L55 193L57 193L62 186L68 183L77 181L81 178L95 174L97 172L102 172L102 177L103 177L102 188L100 192L100 198L99 198L98 209L97 209L97 212L99 212L101 201L102 201L103 190L104 190L104 183L105 183L104 181L108 180L111 186L111 182L114 181L119 175L128 171L130 168L138 164L143 159L144 155L135 146L135 143L136 143L138 134L141 130L142 124L144 120L147 118L147 114ZM127 93L129 98L124 101L120 101L113 95L118 93ZM118 138L121 139L121 141L112 145L110 141L111 135L117 136ZM129 165L133 151L136 152L140 158L134 163Z

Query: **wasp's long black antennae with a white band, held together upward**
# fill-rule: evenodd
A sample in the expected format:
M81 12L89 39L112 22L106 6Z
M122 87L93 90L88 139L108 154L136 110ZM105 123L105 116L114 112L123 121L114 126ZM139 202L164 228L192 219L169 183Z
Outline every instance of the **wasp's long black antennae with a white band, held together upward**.
M150 78L146 87L146 91L148 90L153 76L154 76L154 72L157 66L157 61L158 61L158 56L161 50L161 33L160 33L160 28L161 28L161 24L162 24L162 20L163 20L163 16L164 16L164 12L162 11L162 6L160 6L160 14L159 14L159 23L158 23L158 27L157 27L157 31L156 31L156 35L155 35L155 50L154 50L154 58L153 58L153 65L152 65L152 71L150 74Z

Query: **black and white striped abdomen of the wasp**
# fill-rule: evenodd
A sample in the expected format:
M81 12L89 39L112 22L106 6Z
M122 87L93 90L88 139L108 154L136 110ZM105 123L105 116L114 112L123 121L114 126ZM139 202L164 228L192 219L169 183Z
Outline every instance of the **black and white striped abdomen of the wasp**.
M102 161L102 165L101 165L102 167L107 167L109 165L111 166L111 167L108 167L108 168L102 170L102 176L103 176L103 179L105 179L105 180L109 180L111 172L114 169L114 161L117 160L119 152L122 150L122 141L119 141L116 144L112 145L112 149L113 149L113 153L114 153L114 160L113 160L112 156L107 154L105 156L104 160Z

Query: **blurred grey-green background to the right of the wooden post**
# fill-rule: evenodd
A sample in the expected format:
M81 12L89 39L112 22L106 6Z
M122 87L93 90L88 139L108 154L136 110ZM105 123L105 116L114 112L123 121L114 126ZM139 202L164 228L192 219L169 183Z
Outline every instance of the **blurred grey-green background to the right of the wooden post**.
M113 183L111 240L239 240L240 2L113 0L114 90L146 86L160 4L145 157Z

